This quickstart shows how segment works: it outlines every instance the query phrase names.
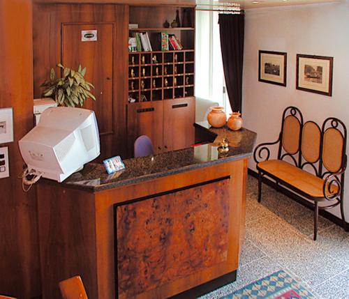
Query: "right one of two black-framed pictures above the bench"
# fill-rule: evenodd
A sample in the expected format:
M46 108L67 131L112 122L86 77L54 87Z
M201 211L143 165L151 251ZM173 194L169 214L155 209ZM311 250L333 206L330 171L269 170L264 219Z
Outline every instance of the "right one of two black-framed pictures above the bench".
M297 54L296 88L332 96L333 57Z

